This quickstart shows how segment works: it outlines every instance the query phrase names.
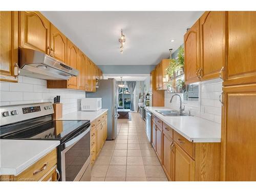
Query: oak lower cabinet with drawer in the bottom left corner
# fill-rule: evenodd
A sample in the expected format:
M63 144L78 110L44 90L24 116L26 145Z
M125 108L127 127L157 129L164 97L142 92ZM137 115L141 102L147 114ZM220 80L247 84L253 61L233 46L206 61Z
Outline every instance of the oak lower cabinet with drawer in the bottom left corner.
M55 148L17 176L0 176L5 181L58 181L57 149Z

